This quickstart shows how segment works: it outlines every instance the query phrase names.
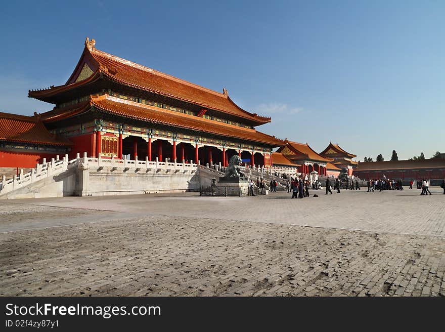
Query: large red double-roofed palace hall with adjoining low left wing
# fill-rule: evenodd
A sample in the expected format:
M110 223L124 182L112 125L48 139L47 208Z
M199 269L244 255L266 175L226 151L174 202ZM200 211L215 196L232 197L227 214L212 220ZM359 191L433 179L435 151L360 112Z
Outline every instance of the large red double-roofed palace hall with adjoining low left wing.
M86 152L103 158L182 160L227 165L239 155L271 167L286 144L255 129L270 117L222 93L99 51L86 38L68 81L29 91L54 104L34 116L0 113L0 167L32 168L42 158Z

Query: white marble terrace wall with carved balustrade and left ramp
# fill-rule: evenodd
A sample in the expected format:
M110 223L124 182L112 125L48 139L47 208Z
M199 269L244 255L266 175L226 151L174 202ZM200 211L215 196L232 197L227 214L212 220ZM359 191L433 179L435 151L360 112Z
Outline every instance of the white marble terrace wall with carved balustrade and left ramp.
M0 199L199 191L198 164L65 155L0 182Z

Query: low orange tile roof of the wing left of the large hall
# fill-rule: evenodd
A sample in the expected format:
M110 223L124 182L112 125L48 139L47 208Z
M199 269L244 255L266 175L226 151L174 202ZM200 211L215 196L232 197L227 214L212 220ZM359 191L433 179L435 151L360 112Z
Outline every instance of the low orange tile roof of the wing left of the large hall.
M0 141L72 145L68 139L51 134L38 117L10 113L0 113Z

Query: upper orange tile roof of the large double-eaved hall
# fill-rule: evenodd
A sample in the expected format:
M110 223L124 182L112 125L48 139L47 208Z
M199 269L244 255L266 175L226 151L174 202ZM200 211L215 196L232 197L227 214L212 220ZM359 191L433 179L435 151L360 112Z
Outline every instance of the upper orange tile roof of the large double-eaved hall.
M221 111L242 117L256 123L263 124L271 121L270 117L259 116L256 113L250 113L237 106L229 97L227 90L219 93L186 80L164 74L157 70L139 65L137 63L119 58L109 53L99 51L95 48L95 41L85 42L85 52L89 53L98 63L98 69L88 78L67 84L65 86L52 87L40 91L30 91L29 96L38 98L42 95L51 95L52 92L78 87L84 82L90 82L98 78L98 73L118 82L119 84L132 88L145 90L158 95L182 100L191 104L199 105L204 108ZM80 61L78 66L80 65ZM76 67L77 68L77 67ZM74 73L73 73L74 74Z

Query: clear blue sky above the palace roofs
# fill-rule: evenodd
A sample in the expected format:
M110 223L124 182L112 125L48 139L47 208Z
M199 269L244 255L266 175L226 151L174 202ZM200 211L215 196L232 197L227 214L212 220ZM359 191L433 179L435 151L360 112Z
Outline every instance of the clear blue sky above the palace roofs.
M0 111L53 105L86 36L272 117L259 131L389 160L445 152L445 1L24 1L0 12Z

